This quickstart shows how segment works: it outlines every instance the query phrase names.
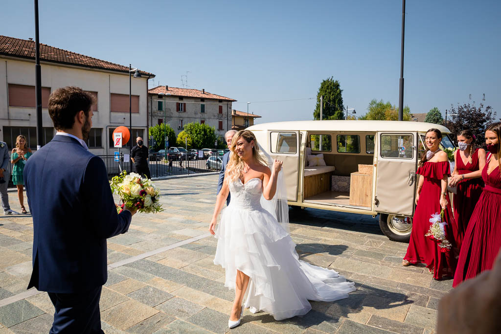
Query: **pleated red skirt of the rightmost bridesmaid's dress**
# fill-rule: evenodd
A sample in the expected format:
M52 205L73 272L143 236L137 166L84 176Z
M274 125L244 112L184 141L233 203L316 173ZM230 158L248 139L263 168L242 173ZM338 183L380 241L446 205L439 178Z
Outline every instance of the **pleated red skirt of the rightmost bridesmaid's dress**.
M492 269L500 249L501 194L484 191L468 223L452 286Z

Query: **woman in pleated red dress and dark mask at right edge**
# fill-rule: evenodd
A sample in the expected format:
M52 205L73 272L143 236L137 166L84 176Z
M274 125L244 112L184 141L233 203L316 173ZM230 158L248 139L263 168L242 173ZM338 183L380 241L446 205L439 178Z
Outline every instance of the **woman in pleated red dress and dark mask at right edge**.
M452 286L492 269L501 248L501 122L485 131L487 162L482 170L485 182L464 235Z

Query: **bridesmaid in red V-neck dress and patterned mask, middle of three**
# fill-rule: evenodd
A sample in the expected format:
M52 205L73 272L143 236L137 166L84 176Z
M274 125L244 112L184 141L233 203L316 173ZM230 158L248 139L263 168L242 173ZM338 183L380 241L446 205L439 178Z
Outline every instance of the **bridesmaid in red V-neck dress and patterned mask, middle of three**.
M452 202L457 225L457 235L454 235L454 240L458 248L461 248L466 226L484 186L482 169L485 166L485 150L476 148L474 141L470 130L463 130L457 135L459 150L455 153L456 163L449 178L451 187L457 185L457 192Z

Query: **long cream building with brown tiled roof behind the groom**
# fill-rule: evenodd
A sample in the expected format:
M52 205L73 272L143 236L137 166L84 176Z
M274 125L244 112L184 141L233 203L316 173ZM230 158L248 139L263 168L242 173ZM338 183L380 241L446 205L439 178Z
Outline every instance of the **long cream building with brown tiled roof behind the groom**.
M28 145L37 148L35 108L35 43L0 36L0 140L12 148L19 134ZM92 130L87 144L92 153L113 154L112 132L118 126L129 127L129 68L88 56L40 45L42 69L42 118L44 142L55 130L49 116L49 94L60 87L77 86L97 98L93 106ZM148 79L141 71L132 78L133 138L148 136Z

